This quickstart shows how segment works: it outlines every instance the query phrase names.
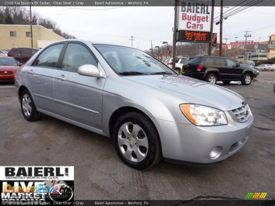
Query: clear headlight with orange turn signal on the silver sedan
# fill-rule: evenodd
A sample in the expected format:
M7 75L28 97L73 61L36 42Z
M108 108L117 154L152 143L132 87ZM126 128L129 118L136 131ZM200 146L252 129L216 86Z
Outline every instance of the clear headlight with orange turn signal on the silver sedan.
M181 104L180 109L190 122L197 126L227 124L225 113L212 107L198 104Z

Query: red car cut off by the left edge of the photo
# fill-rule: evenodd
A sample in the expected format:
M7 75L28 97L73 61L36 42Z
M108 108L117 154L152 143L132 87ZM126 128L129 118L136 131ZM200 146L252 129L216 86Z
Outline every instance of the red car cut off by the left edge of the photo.
M0 57L0 82L14 81L17 69L22 66L22 63L17 64L13 57Z

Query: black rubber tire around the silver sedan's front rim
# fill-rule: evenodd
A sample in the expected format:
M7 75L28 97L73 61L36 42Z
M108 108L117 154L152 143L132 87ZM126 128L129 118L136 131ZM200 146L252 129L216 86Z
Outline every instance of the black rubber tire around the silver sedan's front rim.
M119 141L118 140L119 139L119 136L118 136L119 130L120 130L121 126L127 122L132 122L133 124L137 124L138 126L140 126L142 128L142 130L145 132L145 135L147 136L147 139L148 139L147 155L146 155L145 159L143 159L140 162L134 162L134 161L127 159L122 154L122 151L121 151L122 147L119 146L119 142L118 142ZM128 130L129 130L129 127L128 127ZM121 134L121 136L123 136L123 133ZM117 154L120 157L120 159L126 165L133 167L134 169L139 169L139 170L148 169L148 168L156 165L162 159L160 138L159 138L158 132L156 130L156 127L151 122L151 120L146 115L144 115L142 112L137 112L137 111L129 112L129 113L123 114L121 117L119 117L119 119L116 121L116 123L114 125L112 138L115 141L115 148L116 148ZM123 145L123 148L124 148L124 145ZM127 146L126 146L126 148L128 149ZM125 150L125 153L126 153L127 149ZM131 149L129 151L131 151ZM135 153L133 154L133 152L131 152L131 155L133 157L133 155L135 155Z

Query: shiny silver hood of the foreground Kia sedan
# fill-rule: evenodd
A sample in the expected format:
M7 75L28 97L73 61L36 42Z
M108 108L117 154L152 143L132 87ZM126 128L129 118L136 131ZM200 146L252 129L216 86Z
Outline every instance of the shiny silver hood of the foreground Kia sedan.
M137 75L123 76L123 78L177 96L189 103L211 106L224 111L239 108L244 102L236 92L186 76Z

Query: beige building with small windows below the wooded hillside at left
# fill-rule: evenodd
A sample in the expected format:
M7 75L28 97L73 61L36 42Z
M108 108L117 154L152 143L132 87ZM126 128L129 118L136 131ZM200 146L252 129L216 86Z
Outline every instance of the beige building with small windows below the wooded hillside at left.
M64 38L45 27L32 26L33 47L40 49ZM13 47L32 47L30 25L0 24L0 49Z

